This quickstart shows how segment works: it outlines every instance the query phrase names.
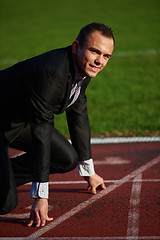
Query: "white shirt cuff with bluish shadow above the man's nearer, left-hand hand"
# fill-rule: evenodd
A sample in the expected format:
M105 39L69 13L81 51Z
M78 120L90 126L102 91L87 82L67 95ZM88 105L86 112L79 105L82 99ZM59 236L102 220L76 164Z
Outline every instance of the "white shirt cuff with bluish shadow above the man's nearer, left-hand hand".
M48 199L48 182L32 182L30 198Z

